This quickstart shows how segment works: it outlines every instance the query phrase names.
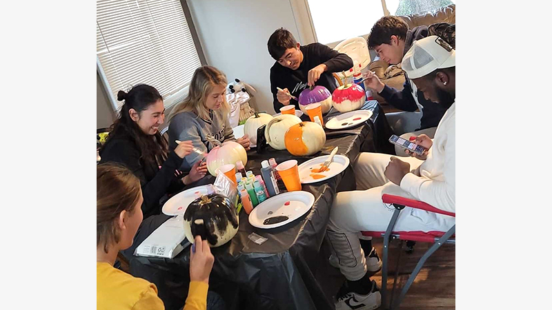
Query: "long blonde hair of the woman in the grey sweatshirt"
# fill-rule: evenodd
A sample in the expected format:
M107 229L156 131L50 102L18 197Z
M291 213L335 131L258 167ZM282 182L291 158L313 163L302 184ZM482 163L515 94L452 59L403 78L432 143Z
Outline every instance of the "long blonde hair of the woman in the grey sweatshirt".
M172 109L168 116L168 121L180 112L194 112L197 116L208 120L209 110L205 106L205 101L208 94L213 90L215 85L222 85L226 89L226 75L217 68L210 65L203 65L197 68L190 82L188 96L181 103L177 104ZM223 96L223 102L220 107L223 119L226 122L228 113L230 113L230 105L226 101L226 96Z

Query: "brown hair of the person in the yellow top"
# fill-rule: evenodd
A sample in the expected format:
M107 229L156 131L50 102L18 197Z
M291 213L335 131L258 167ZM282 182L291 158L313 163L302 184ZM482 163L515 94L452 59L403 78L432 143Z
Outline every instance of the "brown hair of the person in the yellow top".
M96 167L96 247L119 242L117 218L122 211L135 212L141 196L140 180L123 166L105 163Z

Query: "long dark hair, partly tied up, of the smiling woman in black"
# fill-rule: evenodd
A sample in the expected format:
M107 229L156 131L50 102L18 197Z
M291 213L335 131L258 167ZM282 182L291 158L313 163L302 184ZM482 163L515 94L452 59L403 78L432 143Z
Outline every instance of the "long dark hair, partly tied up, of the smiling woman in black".
M121 107L117 121L112 125L112 132L110 132L103 148L108 145L110 139L121 134L128 134L140 149L140 156L144 162L152 166L159 166L164 163L168 152L166 139L159 134L159 131L153 136L142 132L138 124L132 121L129 114L130 109L134 109L141 114L150 105L157 103L159 100L162 101L163 97L161 97L161 94L159 94L155 87L139 84L132 87L128 93L119 90L117 100L124 101L124 104Z

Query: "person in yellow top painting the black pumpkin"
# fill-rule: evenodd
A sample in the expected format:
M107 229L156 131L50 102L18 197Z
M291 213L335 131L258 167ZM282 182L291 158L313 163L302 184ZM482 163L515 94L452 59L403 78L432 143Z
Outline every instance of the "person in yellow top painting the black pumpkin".
M96 180L97 309L165 309L153 283L113 267L119 251L132 245L143 218L140 180L125 167L111 163L97 166ZM184 310L207 309L214 261L207 240L196 236L190 247L190 288ZM219 296L211 298L210 304L218 302L224 307L224 302L216 300Z

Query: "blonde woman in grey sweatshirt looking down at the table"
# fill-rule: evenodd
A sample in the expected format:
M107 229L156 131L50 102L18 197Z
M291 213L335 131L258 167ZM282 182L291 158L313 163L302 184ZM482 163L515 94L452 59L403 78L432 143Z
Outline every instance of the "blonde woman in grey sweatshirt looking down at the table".
M176 141L192 141L200 153L186 156L181 164L182 171L188 171L202 159L216 143L211 141L236 141L249 149L247 135L237 140L228 122L230 105L226 102L226 75L215 67L203 65L197 68L190 81L188 96L175 106L168 116L169 147L177 147Z

